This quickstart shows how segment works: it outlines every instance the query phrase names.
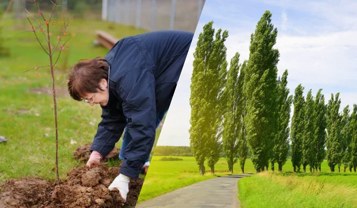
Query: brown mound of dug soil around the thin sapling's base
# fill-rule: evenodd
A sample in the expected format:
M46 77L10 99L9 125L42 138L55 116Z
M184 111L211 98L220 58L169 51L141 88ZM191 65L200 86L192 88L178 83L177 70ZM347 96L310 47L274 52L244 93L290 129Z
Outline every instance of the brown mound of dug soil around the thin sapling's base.
M0 208L131 208L139 197L142 179L131 180L127 200L108 186L119 168L105 164L74 168L60 185L40 178L10 179L0 192Z

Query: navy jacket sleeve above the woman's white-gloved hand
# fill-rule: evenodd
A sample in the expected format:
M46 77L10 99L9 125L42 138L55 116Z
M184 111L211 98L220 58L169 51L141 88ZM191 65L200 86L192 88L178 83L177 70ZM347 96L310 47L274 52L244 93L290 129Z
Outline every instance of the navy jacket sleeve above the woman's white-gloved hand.
M128 118L127 133L132 139L124 149L124 161L119 172L139 178L140 169L155 141L155 77L151 69L136 69L121 77L120 83L117 91L124 100L122 107Z

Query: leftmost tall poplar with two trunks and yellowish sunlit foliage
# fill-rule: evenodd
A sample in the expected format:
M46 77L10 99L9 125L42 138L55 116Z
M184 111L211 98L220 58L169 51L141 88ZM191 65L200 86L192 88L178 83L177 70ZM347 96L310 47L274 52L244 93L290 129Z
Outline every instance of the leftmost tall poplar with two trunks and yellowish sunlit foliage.
M220 157L223 105L223 87L227 73L226 47L224 42L228 31L212 28L213 22L203 27L198 37L193 57L191 78L191 128L190 146L200 173L204 174L203 162L214 172L214 165Z

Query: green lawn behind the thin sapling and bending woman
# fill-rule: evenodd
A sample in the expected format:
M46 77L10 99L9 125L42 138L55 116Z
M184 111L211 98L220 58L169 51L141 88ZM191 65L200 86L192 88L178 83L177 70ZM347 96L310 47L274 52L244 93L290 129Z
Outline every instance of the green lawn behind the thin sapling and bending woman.
M48 69L22 73L36 66L48 65L48 57L42 51L33 34L24 32L11 19L5 19L2 36L5 46L11 50L10 57L0 57L0 135L9 139L0 143L0 183L7 178L40 176L54 179L55 171L55 128L52 95L37 94L35 88L50 89ZM80 59L105 56L109 51L93 47L95 30L104 30L118 39L140 34L143 30L113 25L102 21L74 19L68 28L69 66ZM61 64L60 60L59 64ZM66 71L56 68L57 86L65 79ZM61 91L66 92L66 85ZM100 106L91 107L69 96L58 97L59 118L59 172L66 173L77 165L71 153L78 146L92 142L100 122ZM159 135L159 134L158 134ZM157 135L157 136L158 136ZM71 140L76 144L71 144ZM117 144L120 147L120 144Z

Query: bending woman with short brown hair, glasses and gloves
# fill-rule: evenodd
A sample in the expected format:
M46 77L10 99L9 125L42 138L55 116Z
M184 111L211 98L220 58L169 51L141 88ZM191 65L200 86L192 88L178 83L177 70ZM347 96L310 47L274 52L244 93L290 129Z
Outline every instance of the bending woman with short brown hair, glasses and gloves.
M104 58L80 60L69 74L71 97L102 108L87 166L104 159L125 129L120 174L109 186L125 200L129 178L138 178L143 166L147 171L156 128L169 108L192 38L183 31L126 37Z

